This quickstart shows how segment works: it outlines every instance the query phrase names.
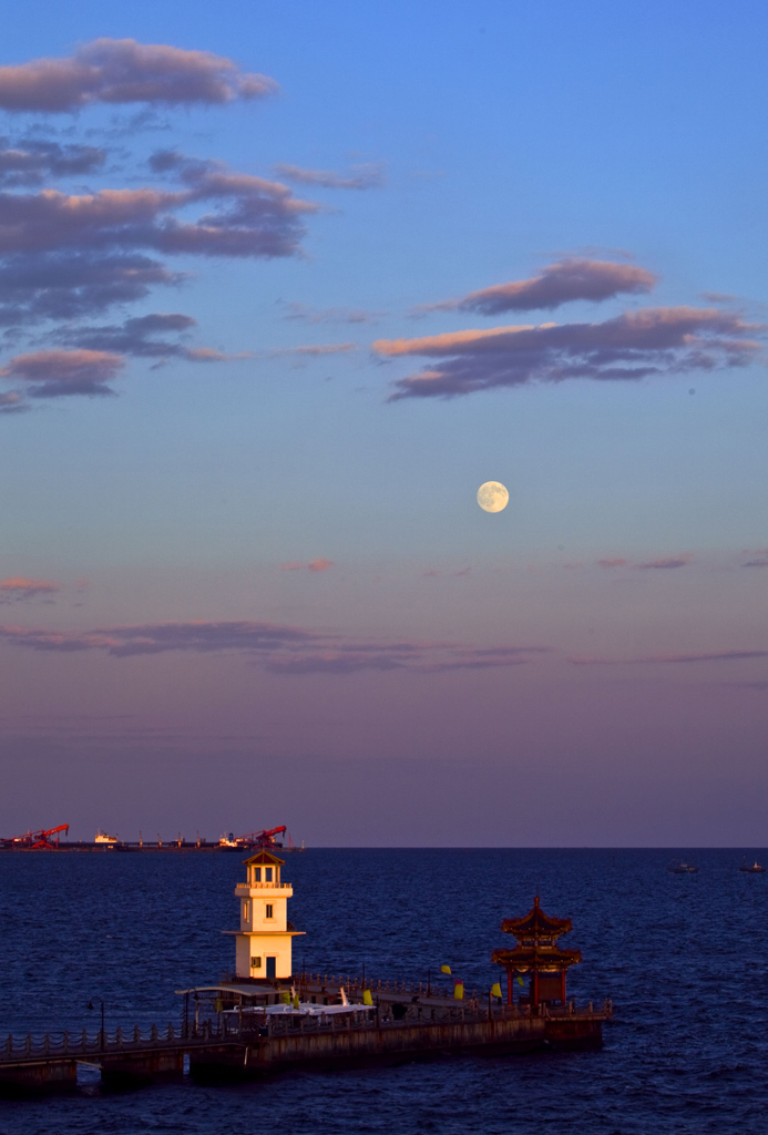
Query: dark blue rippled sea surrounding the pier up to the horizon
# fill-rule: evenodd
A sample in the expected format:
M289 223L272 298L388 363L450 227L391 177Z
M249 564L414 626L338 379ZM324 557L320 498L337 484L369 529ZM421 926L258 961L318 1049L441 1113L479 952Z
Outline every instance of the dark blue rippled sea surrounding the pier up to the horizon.
M768 875L737 850L309 850L286 856L296 962L497 980L501 918L569 916L569 992L614 1001L601 1051L192 1081L0 1101L2 1135L766 1135ZM673 875L670 860L695 861ZM238 855L0 855L3 1034L180 1019L174 990L234 965ZM96 1002L94 1002L96 1003Z

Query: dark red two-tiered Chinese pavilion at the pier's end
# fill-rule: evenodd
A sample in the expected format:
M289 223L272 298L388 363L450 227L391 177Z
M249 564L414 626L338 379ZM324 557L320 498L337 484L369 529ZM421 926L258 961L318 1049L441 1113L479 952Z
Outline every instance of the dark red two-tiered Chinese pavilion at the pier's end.
M568 966L581 961L580 950L560 950L557 940L571 930L569 918L550 918L539 906L539 896L524 918L505 918L505 934L517 939L512 950L493 950L491 961L507 972L507 1003L512 1004L513 978L529 974L529 1000L533 1012L546 1001L565 1003L565 975Z

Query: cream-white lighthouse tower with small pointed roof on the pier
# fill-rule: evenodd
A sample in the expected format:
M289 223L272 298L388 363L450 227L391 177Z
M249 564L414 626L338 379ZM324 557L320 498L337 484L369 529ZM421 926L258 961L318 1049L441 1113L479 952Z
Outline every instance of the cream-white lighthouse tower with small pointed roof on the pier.
M303 931L288 922L288 899L294 889L280 881L282 859L262 848L245 859L247 882L238 883L235 896L240 905L240 928L235 934L237 977L261 981L288 978L293 974L293 939Z

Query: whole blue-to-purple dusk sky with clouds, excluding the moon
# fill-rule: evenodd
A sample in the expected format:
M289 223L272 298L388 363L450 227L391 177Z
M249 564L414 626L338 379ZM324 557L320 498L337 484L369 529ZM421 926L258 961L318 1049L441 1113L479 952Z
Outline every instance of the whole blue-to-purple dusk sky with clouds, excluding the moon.
M0 835L768 843L767 40L17 8Z

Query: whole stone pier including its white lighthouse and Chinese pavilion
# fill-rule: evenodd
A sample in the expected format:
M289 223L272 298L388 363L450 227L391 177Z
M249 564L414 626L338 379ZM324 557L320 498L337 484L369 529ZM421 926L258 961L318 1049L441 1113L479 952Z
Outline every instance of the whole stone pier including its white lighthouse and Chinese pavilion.
M459 982L451 990L297 972L293 940L301 931L287 917L293 888L282 882L284 866L264 847L245 860L246 880L235 889L239 927L225 931L235 936L235 973L178 990L179 1024L108 1033L102 1015L95 1034L9 1036L0 1041L0 1092L74 1090L78 1063L98 1066L106 1084L129 1086L187 1068L201 1079L242 1079L292 1068L601 1044L611 1004L577 1008L567 998L565 973L581 956L558 947L571 922L545 915L538 898L528 915L501 926L517 945L491 957L507 975L506 999L499 983L465 995Z

